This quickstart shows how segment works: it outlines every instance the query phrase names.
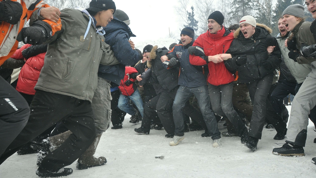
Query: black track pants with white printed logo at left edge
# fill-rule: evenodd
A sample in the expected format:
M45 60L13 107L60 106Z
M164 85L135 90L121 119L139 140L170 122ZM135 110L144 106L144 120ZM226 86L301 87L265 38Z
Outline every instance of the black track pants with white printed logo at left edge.
M26 100L0 77L0 156L27 124L29 115Z

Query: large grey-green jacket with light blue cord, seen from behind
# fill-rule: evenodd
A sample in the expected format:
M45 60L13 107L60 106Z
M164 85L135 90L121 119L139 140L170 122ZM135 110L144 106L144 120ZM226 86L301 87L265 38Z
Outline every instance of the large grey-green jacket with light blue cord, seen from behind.
M62 29L49 41L44 67L34 89L91 102L99 64L114 65L119 61L104 42L104 34L96 32L93 18L86 10L61 12Z

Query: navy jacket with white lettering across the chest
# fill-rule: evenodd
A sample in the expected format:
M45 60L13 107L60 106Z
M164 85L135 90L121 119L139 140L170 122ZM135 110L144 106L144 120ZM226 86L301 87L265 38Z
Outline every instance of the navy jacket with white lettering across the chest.
M193 66L190 64L188 48L192 46L194 40L192 40L186 46L175 45L173 49L167 54L169 60L176 56L176 59L180 63L180 74L178 85L187 86L189 88L205 86L207 85L206 79L204 77L204 67L203 66ZM162 65L169 69L169 61L165 61ZM174 66L176 67L176 66ZM172 67L173 68L173 67Z

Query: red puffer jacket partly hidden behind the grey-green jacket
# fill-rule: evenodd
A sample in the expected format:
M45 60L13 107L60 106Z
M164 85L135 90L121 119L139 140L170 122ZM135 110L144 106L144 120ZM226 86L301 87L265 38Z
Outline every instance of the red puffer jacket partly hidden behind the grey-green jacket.
M20 49L17 49L11 57L14 59L24 59L22 51L30 46L30 44L22 46ZM26 60L24 66L21 68L18 83L16 85L16 90L18 92L29 95L35 94L34 87L44 65L45 54L46 53L41 53Z

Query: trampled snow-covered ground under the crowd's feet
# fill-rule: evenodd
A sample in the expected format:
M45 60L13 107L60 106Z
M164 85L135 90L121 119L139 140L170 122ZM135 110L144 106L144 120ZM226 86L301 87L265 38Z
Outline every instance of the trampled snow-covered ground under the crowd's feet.
M287 106L290 110L290 106ZM107 130L101 137L96 156L105 156L104 166L76 170L76 162L70 167L74 172L67 178L149 178L149 177L315 177L316 157L313 139L316 133L310 121L305 156L285 157L272 154L272 149L281 147L273 140L276 131L263 129L258 149L251 152L240 143L239 137L222 137L223 145L212 147L210 137L203 138L203 131L185 133L185 139L177 146L169 146L171 138L165 138L164 130L151 130L149 135L139 135L134 128L139 124L129 123L126 115L123 129ZM112 126L112 125L111 125ZM219 124L220 131L223 129ZM155 159L164 156L164 159ZM14 154L0 166L1 178L36 178L36 154Z

